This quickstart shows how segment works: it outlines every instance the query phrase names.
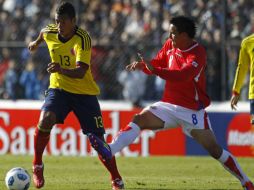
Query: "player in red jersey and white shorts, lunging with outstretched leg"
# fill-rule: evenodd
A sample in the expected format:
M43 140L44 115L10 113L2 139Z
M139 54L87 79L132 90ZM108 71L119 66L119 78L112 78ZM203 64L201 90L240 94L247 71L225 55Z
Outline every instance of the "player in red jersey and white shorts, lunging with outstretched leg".
M244 189L254 190L250 179L240 168L235 157L223 149L213 133L205 108L210 104L206 93L206 51L194 40L195 23L184 16L171 19L169 39L150 61L140 56L139 61L127 65L129 71L143 70L166 81L163 98L144 108L119 131L109 144L111 154L131 144L141 130L160 130L181 126L183 132L201 144L223 167L240 180ZM93 137L92 145L104 154L100 139Z

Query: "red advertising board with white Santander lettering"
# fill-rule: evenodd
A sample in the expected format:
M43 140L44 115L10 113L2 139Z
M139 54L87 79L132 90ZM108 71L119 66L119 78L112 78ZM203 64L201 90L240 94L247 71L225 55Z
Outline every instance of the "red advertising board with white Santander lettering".
M107 142L124 128L137 111L103 111ZM33 134L39 119L39 110L2 109L0 111L0 154L33 154ZM184 155L185 137L181 129L170 131L143 131L123 156ZM64 124L55 125L46 154L65 156L94 155L79 123L71 113Z

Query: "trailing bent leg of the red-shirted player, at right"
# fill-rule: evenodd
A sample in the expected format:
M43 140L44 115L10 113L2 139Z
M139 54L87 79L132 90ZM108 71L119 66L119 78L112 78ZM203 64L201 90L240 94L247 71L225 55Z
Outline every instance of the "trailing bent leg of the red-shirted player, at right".
M248 190L254 190L252 183L242 171L235 157L230 152L222 149L217 143L214 133L210 129L193 129L191 131L191 136L200 143L213 158L217 159L226 170L238 178L243 187Z

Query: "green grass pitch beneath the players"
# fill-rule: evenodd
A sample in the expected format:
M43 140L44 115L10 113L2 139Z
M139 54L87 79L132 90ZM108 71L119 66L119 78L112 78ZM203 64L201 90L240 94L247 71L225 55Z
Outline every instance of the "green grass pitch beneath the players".
M254 180L254 159L237 158L245 173ZM0 189L13 167L31 174L32 156L0 156ZM110 176L97 157L45 156L43 190L108 190ZM117 157L118 168L130 190L240 190L238 180L210 157ZM30 190L35 190L31 184Z

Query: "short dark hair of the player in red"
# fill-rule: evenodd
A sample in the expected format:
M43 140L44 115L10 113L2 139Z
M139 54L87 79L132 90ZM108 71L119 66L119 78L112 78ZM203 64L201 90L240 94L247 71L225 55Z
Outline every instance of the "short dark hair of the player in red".
M179 33L185 32L190 38L195 37L197 27L192 19L185 16L176 16L170 20L170 23L177 28Z

